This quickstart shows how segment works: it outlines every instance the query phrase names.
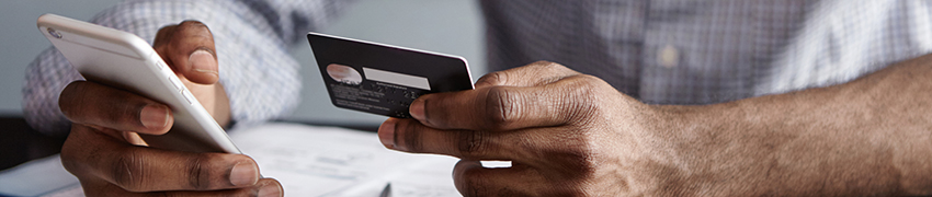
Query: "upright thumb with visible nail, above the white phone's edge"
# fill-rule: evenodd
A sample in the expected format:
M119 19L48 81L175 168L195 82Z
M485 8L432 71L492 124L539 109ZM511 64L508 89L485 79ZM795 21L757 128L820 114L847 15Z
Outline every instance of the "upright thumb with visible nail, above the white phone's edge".
M219 79L214 35L198 21L159 30L152 46L175 71L192 82L213 84Z

